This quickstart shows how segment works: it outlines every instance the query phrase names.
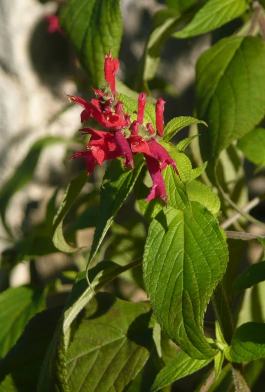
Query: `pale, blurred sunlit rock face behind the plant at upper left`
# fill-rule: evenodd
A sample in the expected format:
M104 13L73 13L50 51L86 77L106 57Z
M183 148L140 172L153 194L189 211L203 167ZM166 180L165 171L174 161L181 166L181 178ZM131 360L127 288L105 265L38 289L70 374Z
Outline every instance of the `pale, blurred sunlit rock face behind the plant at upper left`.
M51 121L69 106L64 92L76 90L68 79L73 61L67 42L58 32L49 34L43 19L54 6L38 0L0 0L1 186L34 141L47 135L71 137L80 125L76 105ZM49 192L49 173L62 170L64 150L58 145L46 149L33 183L11 201L7 219L13 231L19 231L25 203ZM5 236L3 230L0 235Z

